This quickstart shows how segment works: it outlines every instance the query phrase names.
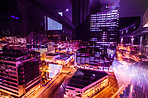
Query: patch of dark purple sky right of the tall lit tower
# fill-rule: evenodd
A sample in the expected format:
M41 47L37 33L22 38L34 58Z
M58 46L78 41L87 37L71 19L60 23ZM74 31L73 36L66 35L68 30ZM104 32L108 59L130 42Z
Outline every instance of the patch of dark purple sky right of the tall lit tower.
M143 16L148 8L148 0L121 0L120 17Z

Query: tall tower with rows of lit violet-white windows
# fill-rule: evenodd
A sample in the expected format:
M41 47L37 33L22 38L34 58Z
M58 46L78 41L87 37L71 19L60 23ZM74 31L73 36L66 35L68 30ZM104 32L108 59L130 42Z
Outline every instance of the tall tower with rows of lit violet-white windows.
M118 10L109 10L90 15L91 41L109 46L118 42Z

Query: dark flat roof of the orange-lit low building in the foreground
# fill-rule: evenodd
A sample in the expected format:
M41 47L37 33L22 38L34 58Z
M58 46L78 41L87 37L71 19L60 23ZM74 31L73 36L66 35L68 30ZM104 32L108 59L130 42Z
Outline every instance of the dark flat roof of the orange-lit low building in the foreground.
M77 69L68 86L82 89L107 75L106 72Z

